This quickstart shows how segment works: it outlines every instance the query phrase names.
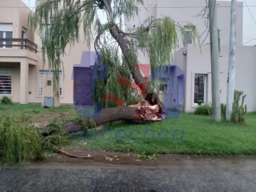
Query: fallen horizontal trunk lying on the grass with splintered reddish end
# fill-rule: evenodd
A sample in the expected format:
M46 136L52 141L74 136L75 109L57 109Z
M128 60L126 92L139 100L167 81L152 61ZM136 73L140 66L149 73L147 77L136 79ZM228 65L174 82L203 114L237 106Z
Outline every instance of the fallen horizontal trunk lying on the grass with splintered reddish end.
M137 105L130 105L129 107L113 107L102 109L97 115L98 117L92 119L75 119L63 124L63 129L66 134L71 134L73 132L82 131L84 126L88 129L99 127L101 125L124 120L127 122L134 123L150 123L161 121L165 118L165 115L160 112L159 105L149 105L146 101L141 101ZM46 127L41 132L43 136L48 136L52 134L50 127Z

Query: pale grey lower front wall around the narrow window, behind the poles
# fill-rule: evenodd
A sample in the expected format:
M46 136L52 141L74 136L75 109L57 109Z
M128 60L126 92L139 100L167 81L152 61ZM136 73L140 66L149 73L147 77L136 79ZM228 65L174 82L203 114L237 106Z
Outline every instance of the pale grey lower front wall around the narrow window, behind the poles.
M256 111L256 47L255 46L237 46L236 56L236 74L235 89L243 91L247 97L248 112ZM222 57L219 59L220 65L220 102L226 102L228 87L228 57L229 46L221 46ZM207 102L211 102L211 75L210 75L210 45L202 47L202 53L199 48L188 45L187 55L187 79L186 79L186 112L193 112L197 105L193 104L194 98L194 78L195 73L208 75L207 78Z

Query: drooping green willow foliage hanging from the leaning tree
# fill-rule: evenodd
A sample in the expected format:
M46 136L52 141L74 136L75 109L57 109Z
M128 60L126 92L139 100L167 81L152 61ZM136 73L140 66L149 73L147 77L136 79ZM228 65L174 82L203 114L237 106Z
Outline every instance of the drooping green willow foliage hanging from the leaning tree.
M110 1L105 2L110 3ZM132 82L134 77L131 72L134 70L133 64L139 63L136 54L139 50L150 55L151 69L169 63L171 54L178 48L177 32L185 33L183 27L169 17L159 19L150 17L139 26L131 28L126 26L124 32L124 23L138 15L139 7L144 6L144 1L112 0L111 2L111 5L105 5L98 0L45 0L38 4L34 12L31 12L28 18L29 26L39 33L44 30L44 23L51 26L46 28L43 36L42 50L44 65L47 59L50 70L54 72L55 95L58 95L56 88L56 83L59 82L58 70L61 68L63 70L61 57L65 55L68 46L81 41L79 29L82 26L89 47L93 38L92 31L95 31L97 36L95 50L100 50L100 63L108 65L107 80L98 81L94 93L94 100L103 103L103 107L116 106L112 101L103 100L105 93L122 98L127 105L134 104L134 100L139 99L136 91L117 82L120 77ZM112 13L106 14L107 6L111 6ZM107 23L100 18L102 11L105 12ZM191 28L191 37L195 41L198 36L195 26L192 23L187 23L186 26ZM126 48L122 48L122 54L119 51L119 43L110 33L112 27L116 28L119 38L124 38L122 42ZM124 51L129 52L129 57L124 55Z

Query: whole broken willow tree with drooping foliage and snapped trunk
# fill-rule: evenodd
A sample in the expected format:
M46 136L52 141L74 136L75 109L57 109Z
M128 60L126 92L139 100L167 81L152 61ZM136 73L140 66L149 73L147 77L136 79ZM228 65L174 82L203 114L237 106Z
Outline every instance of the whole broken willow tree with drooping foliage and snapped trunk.
M156 19L153 16L140 26L126 27L123 31L122 23L129 21L132 16L138 16L139 6L144 6L143 0L45 0L29 16L31 27L40 33L45 31L43 62L46 63L47 58L48 66L53 70L54 94L57 97L58 71L64 70L61 56L69 44L72 46L79 40L80 23L83 25L88 46L93 39L92 28L95 28L97 36L94 46L100 52L100 61L97 64L104 63L108 66L107 80L99 82L94 92L95 100L102 102L104 109L96 118L83 119L83 124L80 119L65 122L63 127L66 133L80 130L84 126L97 127L117 120L136 123L164 120L164 105L157 92L161 82L149 83L146 75L142 75L137 67L137 53L142 50L149 55L151 70L166 65L170 61L171 53L178 47L177 31L181 34L185 31L169 17ZM107 23L100 20L97 14L99 11L104 11ZM49 23L51 27L43 27L42 23ZM191 37L195 40L196 29L191 23L187 23L187 26L191 26ZM139 100L134 98L134 92L138 90L120 85L120 78L134 82L139 87ZM130 106L114 107L113 101L102 99L106 94L122 98Z

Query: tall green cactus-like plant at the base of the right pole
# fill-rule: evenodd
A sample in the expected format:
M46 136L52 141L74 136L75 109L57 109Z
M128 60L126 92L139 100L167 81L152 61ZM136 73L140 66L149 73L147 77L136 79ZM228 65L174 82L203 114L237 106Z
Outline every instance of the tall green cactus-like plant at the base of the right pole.
M234 102L232 107L232 116L231 122L235 124L244 124L245 123L245 114L247 112L247 105L244 106L246 95L242 95L242 91L235 90L234 93ZM240 99L242 96L242 103L240 105Z

